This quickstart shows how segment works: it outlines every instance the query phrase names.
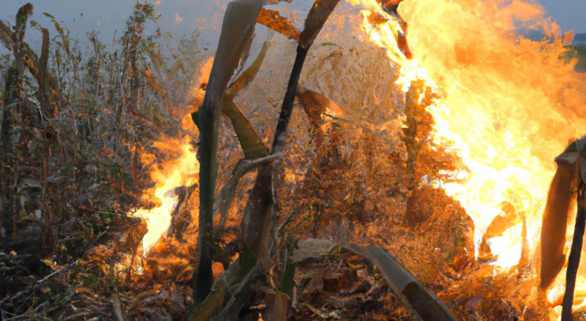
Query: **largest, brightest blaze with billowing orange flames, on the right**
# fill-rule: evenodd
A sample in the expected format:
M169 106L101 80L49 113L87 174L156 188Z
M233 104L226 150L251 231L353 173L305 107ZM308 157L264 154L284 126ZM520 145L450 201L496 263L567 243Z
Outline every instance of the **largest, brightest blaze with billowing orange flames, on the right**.
M347 1L364 8L361 28L386 49L398 86L406 92L423 80L438 97L427 108L435 120L434 139L457 153L466 168L436 183L473 219L476 254L487 229L496 228L500 232L486 240L496 258L492 264L513 267L522 251L531 263L553 158L569 139L586 133L580 121L584 80L573 62L560 58L571 34L562 36L543 8L522 0L404 1L398 9L408 30L376 0ZM546 39L530 40L520 30L540 30ZM403 34L408 53L397 44ZM586 278L578 281L580 296ZM557 299L554 292L563 293L563 282L558 277L550 302Z

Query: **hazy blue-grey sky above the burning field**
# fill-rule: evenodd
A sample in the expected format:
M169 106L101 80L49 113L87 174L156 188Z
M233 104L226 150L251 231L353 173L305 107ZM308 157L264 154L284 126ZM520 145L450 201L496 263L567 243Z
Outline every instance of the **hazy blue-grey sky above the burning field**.
M433 1L433 0L430 0ZM0 19L13 24L18 8L26 2L35 6L32 20L41 26L52 27L50 19L43 12L49 12L57 21L71 30L78 39L86 39L86 33L96 30L100 39L111 42L124 32L124 21L132 13L135 0L0 0ZM200 30L203 46L213 46L217 29L222 24L222 10L219 8L228 0L152 0L157 12L161 13L159 26L175 36L189 35L194 29ZM558 22L562 30L586 33L586 0L539 0L548 15ZM311 0L296 0L301 6L311 5ZM220 6L218 5L220 4ZM212 28L210 28L210 26ZM216 30L214 30L216 29ZM54 30L49 28L49 30ZM39 46L40 36L36 30L29 32L28 42ZM39 32L36 32L39 33ZM54 33L54 32L53 32Z

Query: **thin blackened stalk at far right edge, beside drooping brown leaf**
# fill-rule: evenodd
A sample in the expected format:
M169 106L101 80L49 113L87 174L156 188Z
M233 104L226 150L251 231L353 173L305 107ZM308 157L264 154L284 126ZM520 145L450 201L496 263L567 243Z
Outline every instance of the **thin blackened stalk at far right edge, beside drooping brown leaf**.
M574 237L572 238L572 247L570 249L570 256L568 257L568 269L565 273L565 292L564 300L561 303L561 321L572 320L572 305L574 302L576 275L578 273L578 266L580 265L584 228L586 227L585 188L586 185L584 182L580 182L580 185L578 186L578 213L576 214Z

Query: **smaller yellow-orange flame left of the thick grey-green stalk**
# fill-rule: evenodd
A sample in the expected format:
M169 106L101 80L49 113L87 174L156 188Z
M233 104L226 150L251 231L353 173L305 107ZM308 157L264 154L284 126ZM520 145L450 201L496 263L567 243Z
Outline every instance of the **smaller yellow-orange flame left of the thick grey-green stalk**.
M190 186L198 181L199 162L193 150L189 136L183 139L169 139L156 142L155 148L170 152L178 152L179 157L155 166L151 172L151 179L155 183L152 189L147 190L143 197L156 204L152 209L138 209L131 211L131 216L142 217L147 221L147 234L142 238L142 248L147 251L168 230L171 224L171 213L177 204L175 189L181 186ZM150 163L154 156L142 153L142 163Z

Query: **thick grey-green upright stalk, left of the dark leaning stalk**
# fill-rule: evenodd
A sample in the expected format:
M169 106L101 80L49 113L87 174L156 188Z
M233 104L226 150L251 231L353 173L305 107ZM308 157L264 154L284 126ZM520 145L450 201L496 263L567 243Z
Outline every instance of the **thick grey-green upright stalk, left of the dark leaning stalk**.
M192 119L199 128L199 234L197 263L193 275L193 298L199 305L210 293L213 283L213 211L217 176L217 140L222 100L230 77L239 64L253 35L261 0L235 0L226 8L216 59L208 81L206 95Z

